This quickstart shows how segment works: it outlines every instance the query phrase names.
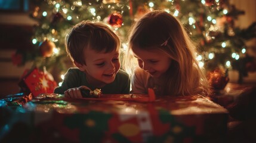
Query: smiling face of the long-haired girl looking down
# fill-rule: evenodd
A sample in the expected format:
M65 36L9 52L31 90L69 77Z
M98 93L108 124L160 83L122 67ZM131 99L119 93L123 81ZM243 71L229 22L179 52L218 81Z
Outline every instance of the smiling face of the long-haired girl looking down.
M140 48L132 48L134 56L138 59L138 66L147 71L152 77L160 77L171 64L171 58L158 49L150 51Z

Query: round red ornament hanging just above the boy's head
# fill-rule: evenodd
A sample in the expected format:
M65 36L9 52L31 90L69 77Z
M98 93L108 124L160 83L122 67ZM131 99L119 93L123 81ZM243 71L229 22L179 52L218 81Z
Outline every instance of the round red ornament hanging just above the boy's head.
M119 28L123 24L123 18L122 15L118 12L114 12L109 15L108 21L107 21L112 27Z

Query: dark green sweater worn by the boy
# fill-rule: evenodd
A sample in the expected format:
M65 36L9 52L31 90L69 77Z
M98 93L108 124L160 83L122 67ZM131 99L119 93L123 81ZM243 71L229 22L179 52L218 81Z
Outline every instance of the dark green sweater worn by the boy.
M103 94L129 94L130 83L129 75L125 71L119 70L115 80L100 89ZM64 94L67 89L78 88L82 85L88 86L92 91L97 88L88 83L86 74L83 71L77 68L70 68L65 74L62 85L55 88L54 93Z

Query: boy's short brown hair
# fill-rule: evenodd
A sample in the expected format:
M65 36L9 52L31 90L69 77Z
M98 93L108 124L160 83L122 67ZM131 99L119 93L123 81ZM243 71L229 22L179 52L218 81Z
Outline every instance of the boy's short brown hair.
M102 22L81 21L66 36L66 51L72 61L85 64L84 49L112 52L120 47L120 39L110 27Z

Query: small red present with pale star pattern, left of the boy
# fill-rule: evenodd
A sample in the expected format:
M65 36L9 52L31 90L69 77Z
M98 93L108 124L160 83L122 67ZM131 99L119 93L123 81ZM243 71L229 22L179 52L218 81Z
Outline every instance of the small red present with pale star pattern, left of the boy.
M38 68L33 68L30 71L24 71L24 74L18 83L21 91L26 94L32 93L33 97L39 94L52 94L57 83L47 71L41 71Z

